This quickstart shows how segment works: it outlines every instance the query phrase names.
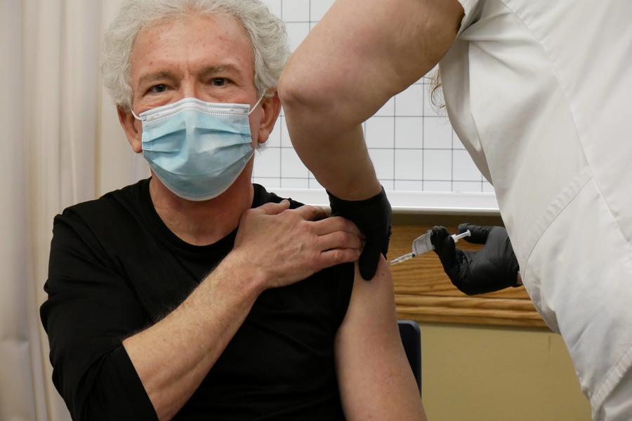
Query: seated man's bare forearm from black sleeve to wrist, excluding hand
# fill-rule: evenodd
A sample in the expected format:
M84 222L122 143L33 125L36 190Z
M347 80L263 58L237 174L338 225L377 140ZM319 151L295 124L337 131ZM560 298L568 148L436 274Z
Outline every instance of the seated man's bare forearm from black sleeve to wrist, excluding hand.
M164 319L123 341L159 420L190 399L261 292L261 279L227 258Z

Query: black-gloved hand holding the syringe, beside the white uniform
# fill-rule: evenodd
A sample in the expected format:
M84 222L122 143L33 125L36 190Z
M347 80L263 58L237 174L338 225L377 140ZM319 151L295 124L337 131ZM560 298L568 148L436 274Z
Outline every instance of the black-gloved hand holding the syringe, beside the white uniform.
M468 295L491 293L518 286L518 260L503 227L459 225L459 234L469 229L468 243L484 244L479 251L463 251L445 227L433 227L430 241L435 246L450 281Z

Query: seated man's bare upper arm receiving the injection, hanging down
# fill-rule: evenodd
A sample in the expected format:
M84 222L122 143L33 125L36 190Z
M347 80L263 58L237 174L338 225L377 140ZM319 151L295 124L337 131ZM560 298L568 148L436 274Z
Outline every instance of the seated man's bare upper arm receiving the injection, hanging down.
M336 335L336 370L348 420L426 420L397 329L393 281L383 258L371 282L362 281L356 268Z

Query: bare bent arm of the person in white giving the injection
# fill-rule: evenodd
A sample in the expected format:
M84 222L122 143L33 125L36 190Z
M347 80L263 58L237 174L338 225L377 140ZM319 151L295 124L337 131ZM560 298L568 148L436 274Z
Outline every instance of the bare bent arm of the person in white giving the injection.
M380 192L360 124L428 73L456 37L456 0L338 0L279 82L290 138L341 199Z

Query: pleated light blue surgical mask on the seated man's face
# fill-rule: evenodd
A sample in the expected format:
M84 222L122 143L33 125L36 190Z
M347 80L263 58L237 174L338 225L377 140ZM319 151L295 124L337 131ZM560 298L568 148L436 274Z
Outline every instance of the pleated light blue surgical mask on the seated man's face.
M219 196L254 154L247 104L184 98L134 115L143 123L143 156L166 188L183 199Z

